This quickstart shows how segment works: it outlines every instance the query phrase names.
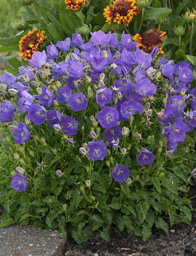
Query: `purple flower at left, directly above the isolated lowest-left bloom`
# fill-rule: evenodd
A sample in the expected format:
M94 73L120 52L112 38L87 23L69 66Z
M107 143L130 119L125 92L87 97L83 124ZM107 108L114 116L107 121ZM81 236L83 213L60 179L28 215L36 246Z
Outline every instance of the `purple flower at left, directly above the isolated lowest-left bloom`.
M15 144L24 144L30 138L30 131L24 123L17 123L12 129L12 135L15 138Z

